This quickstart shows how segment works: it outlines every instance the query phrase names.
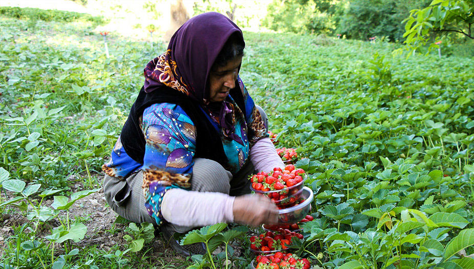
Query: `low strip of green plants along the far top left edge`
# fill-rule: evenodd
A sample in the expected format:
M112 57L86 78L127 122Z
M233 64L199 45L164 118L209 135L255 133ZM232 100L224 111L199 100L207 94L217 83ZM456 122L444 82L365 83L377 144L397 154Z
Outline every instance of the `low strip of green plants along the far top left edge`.
M17 19L44 20L45 22L76 22L87 21L93 24L104 24L102 17L92 16L86 13L77 13L63 10L38 9L38 8L18 8L0 7L0 15Z

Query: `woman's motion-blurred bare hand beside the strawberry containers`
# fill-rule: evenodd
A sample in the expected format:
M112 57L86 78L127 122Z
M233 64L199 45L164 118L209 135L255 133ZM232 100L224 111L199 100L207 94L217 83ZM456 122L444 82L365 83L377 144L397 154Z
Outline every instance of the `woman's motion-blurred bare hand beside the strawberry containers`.
M234 222L251 226L278 222L278 208L263 195L246 194L234 199Z

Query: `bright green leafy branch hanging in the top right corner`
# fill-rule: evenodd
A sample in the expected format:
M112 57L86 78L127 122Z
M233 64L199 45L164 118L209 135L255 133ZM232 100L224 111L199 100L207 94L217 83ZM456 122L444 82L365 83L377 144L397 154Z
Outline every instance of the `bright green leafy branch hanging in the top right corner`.
M405 22L405 49L411 52L430 43L433 33L436 35L436 41L448 33L462 34L474 39L474 32L471 32L471 26L474 24L474 2L434 0L428 7L411 10ZM438 47L432 42L429 49Z

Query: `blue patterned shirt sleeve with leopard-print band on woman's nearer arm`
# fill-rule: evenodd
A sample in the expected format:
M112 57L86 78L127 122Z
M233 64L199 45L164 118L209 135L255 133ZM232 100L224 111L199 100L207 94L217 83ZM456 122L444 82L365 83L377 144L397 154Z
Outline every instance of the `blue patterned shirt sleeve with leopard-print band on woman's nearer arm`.
M142 166L145 207L159 225L164 194L191 187L196 129L179 106L168 103L145 109L141 127L146 140Z

